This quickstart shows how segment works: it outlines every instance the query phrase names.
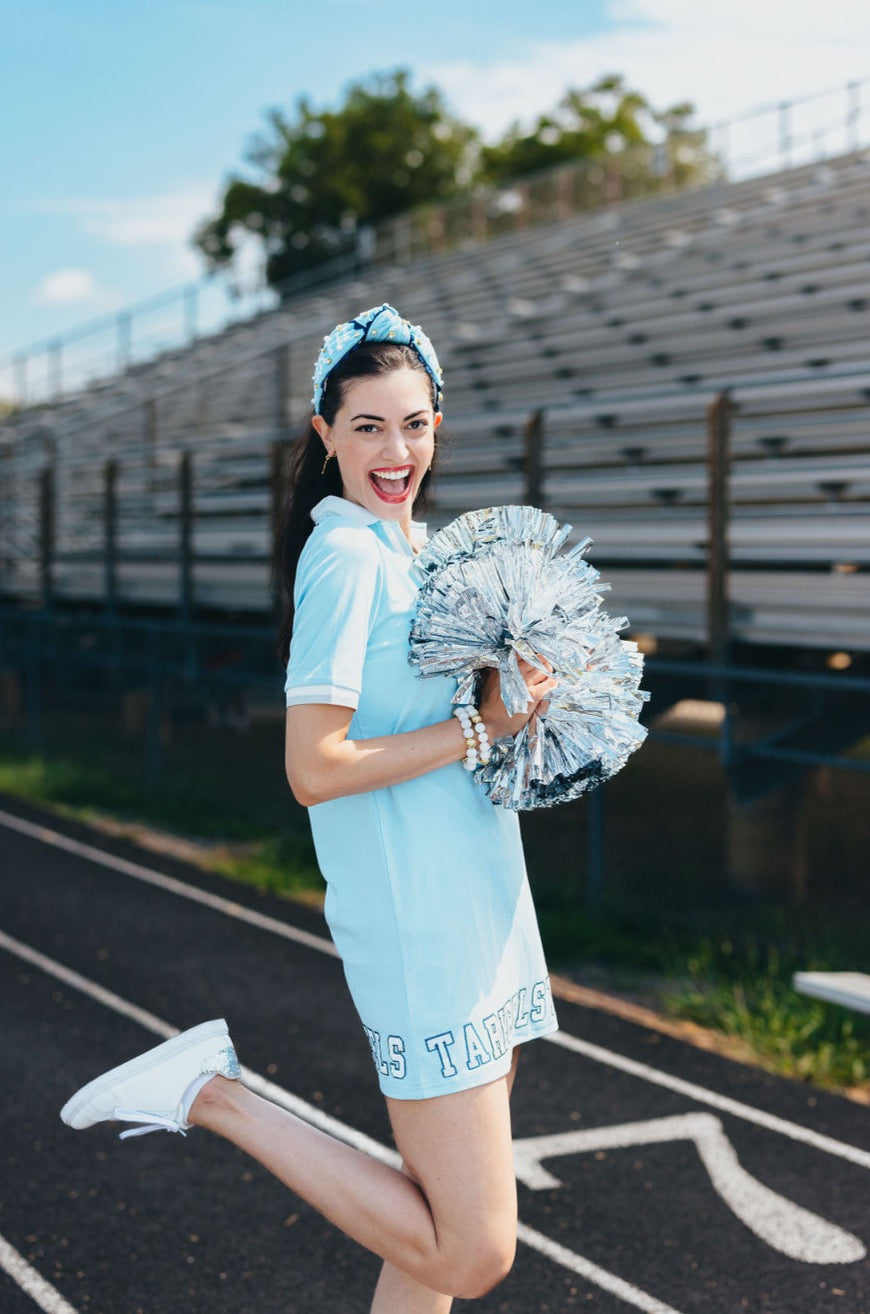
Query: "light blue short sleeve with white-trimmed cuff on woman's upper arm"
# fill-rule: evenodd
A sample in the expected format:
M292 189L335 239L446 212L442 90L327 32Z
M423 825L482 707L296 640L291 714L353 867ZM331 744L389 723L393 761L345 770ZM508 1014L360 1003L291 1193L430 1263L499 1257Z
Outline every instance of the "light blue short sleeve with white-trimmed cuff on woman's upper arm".
M309 539L296 576L288 707L359 707L377 579L371 530L340 526Z

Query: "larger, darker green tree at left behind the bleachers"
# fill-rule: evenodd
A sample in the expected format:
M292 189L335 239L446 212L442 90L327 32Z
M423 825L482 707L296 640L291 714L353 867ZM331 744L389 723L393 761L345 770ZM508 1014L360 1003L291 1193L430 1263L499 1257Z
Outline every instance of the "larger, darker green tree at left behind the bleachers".
M440 92L419 95L401 70L354 83L336 110L297 101L267 114L247 163L254 180L230 177L221 210L195 234L209 268L230 265L238 238L262 239L271 285L351 250L361 225L377 223L472 180L477 134L453 118Z

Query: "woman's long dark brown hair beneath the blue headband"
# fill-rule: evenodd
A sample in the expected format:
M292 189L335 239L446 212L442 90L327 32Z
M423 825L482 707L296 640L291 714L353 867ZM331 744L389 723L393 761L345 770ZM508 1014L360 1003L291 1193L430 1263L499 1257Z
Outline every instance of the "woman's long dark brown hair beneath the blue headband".
M330 371L323 385L321 415L326 423L335 423L335 414L344 401L347 384L356 378L389 374L396 369L419 369L430 378L423 361L413 347L392 342L367 342L350 351ZM435 390L432 389L432 402L434 399ZM284 519L275 544L273 573L280 579L284 602L284 615L277 636L277 652L284 665L289 657L290 636L293 633L296 570L302 548L314 528L311 510L321 498L327 497L330 493L336 497L342 494L342 476L338 469L338 461L330 461L326 469L323 469L325 455L323 440L311 420L309 420L290 453L289 493ZM414 510L426 505L426 489L431 482L432 468L426 472L421 481Z

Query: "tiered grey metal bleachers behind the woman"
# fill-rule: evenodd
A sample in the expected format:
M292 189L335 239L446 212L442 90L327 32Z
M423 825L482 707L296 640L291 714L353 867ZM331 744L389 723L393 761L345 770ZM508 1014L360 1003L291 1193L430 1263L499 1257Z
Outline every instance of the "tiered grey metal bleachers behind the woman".
M867 650L869 217L863 152L635 201L371 267L22 409L0 426L0 594L45 590L51 469L53 594L103 597L110 459L118 600L175 604L187 452L195 603L265 610L272 445L308 413L323 334L389 300L446 372L434 524L527 498L538 413L540 499L593 537L612 607L703 640L706 417L727 390L732 632Z

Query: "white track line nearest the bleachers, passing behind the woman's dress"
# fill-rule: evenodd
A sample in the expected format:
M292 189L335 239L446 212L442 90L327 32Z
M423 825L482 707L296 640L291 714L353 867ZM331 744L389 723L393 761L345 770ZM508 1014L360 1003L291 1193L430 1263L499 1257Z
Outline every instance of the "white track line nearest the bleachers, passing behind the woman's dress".
M110 867L113 871L121 871L125 875L134 876L137 880L145 880L147 884L156 886L159 890L166 890L167 892L179 895L183 899L204 904L205 907L212 908L216 912L221 912L227 917L235 917L239 921L258 926L260 930L267 930L275 936L283 936L285 940L293 940L297 943L306 945L309 949L315 949L318 953L330 954L332 958L338 957L332 941L326 940L323 936L313 936L306 930L298 930L288 922L279 921L277 917L267 917L263 913L252 912L251 909L233 903L229 899L221 899L218 895L210 895L204 890L197 890L196 886L189 886L184 880L177 880L173 876L166 876L163 872L154 871L151 867L145 867L137 862L127 862L125 858L117 858L114 854L105 853L103 849L97 849L93 845L71 840L59 830L53 830L42 825L34 825L34 823L25 821L22 817L17 817L12 812L5 812L1 808L0 825L5 825L11 830L18 830L21 834L26 834L33 840L41 841L42 844L53 845L58 849L66 849L68 853L75 853L79 857L99 862L104 867ZM603 1063L607 1067L616 1068L618 1071L639 1077L643 1081L649 1081L653 1085L661 1085L668 1091L685 1095L690 1100L695 1100L698 1104L707 1104L714 1109L720 1109L723 1113L729 1113L736 1118L743 1118L745 1122L752 1122L756 1126L764 1127L766 1131L774 1131L779 1135L789 1137L791 1141L812 1146L813 1150L821 1150L824 1154L833 1155L837 1159L845 1159L846 1163L857 1164L861 1168L870 1168L870 1151L861 1150L858 1146L852 1146L845 1141L837 1141L833 1137L825 1137L819 1131L812 1131L810 1127L804 1127L799 1122L791 1122L787 1118L777 1117L777 1114L766 1113L764 1109L756 1109L750 1104L744 1104L740 1100L732 1100L729 1096L720 1095L718 1091L710 1091L703 1085L697 1085L694 1081L685 1081L682 1077L672 1076L670 1072L662 1072L658 1068L651 1067L648 1063L640 1063L636 1059L630 1059L626 1055L616 1054L615 1051L607 1050L601 1045L581 1041L578 1037L569 1035L565 1031L545 1035L544 1039L551 1045L557 1045L564 1050L570 1050L572 1053L580 1054L586 1059L591 1059L594 1063Z

